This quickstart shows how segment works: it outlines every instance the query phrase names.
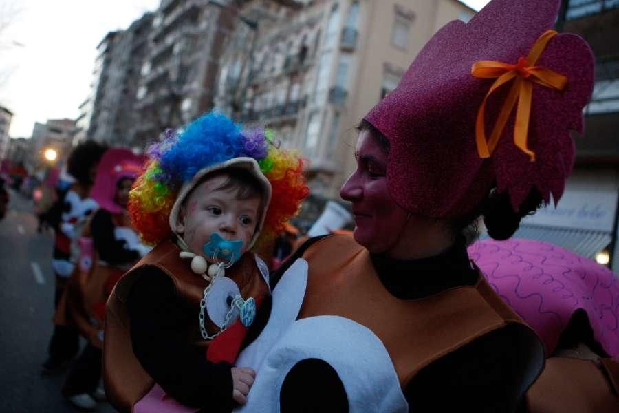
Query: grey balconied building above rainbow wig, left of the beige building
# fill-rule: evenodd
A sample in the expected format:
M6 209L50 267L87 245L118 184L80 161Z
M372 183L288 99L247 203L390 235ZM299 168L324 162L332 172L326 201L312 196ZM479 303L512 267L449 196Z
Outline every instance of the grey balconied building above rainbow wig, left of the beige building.
M133 140L144 145L213 107L222 45L232 30L230 1L162 0L149 34Z

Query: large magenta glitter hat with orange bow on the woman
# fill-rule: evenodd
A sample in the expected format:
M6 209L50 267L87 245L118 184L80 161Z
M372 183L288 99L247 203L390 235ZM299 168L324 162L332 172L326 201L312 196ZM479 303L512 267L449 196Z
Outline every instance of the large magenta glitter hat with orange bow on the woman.
M494 184L499 192L509 191L514 209L532 187L546 202L551 193L558 202L574 164L569 131L582 133L582 111L594 81L594 56L583 39L541 37L554 25L560 3L493 0L468 23L448 23L428 41L400 85L365 116L389 140L389 192L402 208L428 217L459 217L475 209ZM543 43L539 57L531 55L537 43ZM483 73L474 76L474 65ZM550 71L558 84L545 81ZM486 101L506 72L508 81L492 89ZM479 126L490 135L513 97L512 87L520 95L512 99L513 108L506 108L506 124L498 128L496 145L490 138L488 153ZM530 112L516 116L516 106L526 107L522 87L531 92ZM517 118L521 132L514 133Z

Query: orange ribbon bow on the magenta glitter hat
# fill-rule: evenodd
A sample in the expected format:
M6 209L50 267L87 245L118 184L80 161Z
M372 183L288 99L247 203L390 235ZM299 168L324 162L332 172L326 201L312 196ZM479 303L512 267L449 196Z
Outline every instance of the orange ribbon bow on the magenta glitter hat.
M477 153L481 158L490 158L490 155L495 151L497 142L501 138L503 129L518 101L516 111L516 125L514 127L514 144L524 153L528 154L531 162L535 160L535 153L527 147L527 135L529 130L529 118L531 114L531 101L533 97L533 83L552 89L562 91L567 85L567 76L559 74L550 69L534 66L537 59L545 49L548 41L556 36L554 30L547 30L539 36L535 41L527 58L521 57L518 63L510 65L499 61L477 61L473 63L470 69L470 74L477 78L497 78L497 81L490 87L484 103L481 103L479 112L477 112L477 121L475 123L475 140L477 142ZM508 93L501 112L497 117L495 127L492 128L490 140L486 139L486 131L484 130L484 111L486 109L486 101L492 92L495 92L501 85L514 80L512 88Z

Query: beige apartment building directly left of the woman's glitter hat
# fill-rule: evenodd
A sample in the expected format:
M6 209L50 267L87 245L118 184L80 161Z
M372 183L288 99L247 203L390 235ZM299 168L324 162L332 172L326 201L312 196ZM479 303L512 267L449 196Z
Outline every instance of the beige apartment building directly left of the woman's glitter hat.
M312 192L336 197L354 170L355 125L436 30L474 13L456 0L246 1L239 17L257 28L237 21L217 107L301 149Z

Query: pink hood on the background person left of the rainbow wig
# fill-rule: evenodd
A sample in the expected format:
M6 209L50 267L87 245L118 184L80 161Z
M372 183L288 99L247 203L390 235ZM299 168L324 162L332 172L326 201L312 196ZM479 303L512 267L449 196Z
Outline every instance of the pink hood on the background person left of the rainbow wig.
M121 213L122 208L114 201L116 185L123 178L135 179L142 171L146 157L135 155L126 148L110 148L103 154L97 168L95 183L90 191L102 209L110 213Z

